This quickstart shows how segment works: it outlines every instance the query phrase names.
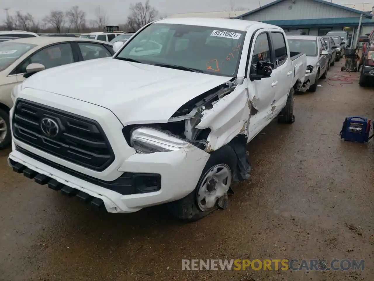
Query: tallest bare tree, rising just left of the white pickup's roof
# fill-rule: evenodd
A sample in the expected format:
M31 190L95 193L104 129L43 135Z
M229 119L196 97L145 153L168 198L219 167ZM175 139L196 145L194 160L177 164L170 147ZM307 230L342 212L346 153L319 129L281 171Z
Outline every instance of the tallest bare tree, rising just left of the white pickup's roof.
M130 31L134 32L142 28L144 25L157 19L159 11L149 4L149 0L130 5L130 15L127 18L127 25Z

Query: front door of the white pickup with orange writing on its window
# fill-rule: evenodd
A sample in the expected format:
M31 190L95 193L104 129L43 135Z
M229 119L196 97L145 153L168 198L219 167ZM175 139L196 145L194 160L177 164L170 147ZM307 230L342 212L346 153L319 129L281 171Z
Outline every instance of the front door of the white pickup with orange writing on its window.
M270 30L269 30L270 31ZM248 99L252 106L258 111L256 115L271 117L271 106L275 100L276 83L274 75L270 78L251 81L250 74L256 73L257 62L260 60L273 62L270 50L270 32L266 29L257 31L252 44L248 64Z

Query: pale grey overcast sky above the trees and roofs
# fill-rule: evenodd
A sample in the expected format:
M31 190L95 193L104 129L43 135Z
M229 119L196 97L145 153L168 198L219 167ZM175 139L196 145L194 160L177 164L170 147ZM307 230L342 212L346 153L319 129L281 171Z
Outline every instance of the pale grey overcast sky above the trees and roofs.
M145 1L145 0L144 0ZM143 1L143 3L144 3ZM329 0L331 1L331 0ZM5 10L15 13L17 10L23 13L31 13L35 18L42 19L50 10L67 10L71 6L78 5L87 14L87 19L93 19L95 8L101 5L107 11L108 24L119 24L126 21L129 4L137 0L0 0L0 22L4 21ZM260 0L261 6L272 0ZM332 0L338 4L370 3L374 0ZM236 7L256 9L260 5L258 0L231 0ZM214 12L230 10L230 0L150 0L150 4L159 10L161 14L190 12Z

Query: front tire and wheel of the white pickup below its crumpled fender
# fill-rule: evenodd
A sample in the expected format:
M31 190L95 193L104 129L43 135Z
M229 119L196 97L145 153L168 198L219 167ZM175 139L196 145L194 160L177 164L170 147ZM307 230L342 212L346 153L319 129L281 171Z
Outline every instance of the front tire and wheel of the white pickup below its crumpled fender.
M182 199L167 204L171 215L178 220L192 222L217 210L218 200L215 194L224 192L227 196L235 169L236 154L230 145L213 151L194 191Z

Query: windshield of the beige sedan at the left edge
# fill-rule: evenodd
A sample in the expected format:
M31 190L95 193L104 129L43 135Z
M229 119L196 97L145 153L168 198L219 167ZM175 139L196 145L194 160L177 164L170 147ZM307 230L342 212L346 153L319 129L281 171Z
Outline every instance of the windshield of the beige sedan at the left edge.
M34 44L2 42L0 44L0 71L14 63L21 55L36 47Z

